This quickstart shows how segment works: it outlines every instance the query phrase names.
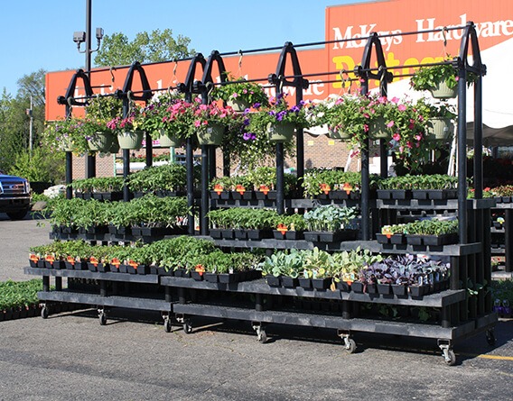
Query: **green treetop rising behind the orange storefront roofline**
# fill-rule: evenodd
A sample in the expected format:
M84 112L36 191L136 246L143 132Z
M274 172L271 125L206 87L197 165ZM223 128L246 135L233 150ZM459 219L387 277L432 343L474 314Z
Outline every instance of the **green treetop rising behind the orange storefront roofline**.
M105 35L103 44L95 56L98 67L130 65L140 63L184 59L194 54L189 50L191 39L178 35L173 38L171 29L154 30L151 33L139 32L134 41L129 41L124 33Z

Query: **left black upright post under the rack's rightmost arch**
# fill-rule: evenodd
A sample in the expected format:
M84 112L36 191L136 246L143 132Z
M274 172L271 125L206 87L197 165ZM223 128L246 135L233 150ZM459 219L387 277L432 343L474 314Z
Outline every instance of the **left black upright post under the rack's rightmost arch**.
M460 243L467 240L467 75L465 68L458 68L458 223Z

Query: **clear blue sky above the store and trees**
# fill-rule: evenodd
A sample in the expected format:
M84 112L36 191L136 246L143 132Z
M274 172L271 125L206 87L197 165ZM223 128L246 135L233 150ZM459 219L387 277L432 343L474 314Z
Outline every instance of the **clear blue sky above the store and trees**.
M324 41L327 6L365 1L92 0L92 47L97 27L108 35L123 32L129 40L137 32L169 28L174 37L189 37L191 49L204 55ZM77 50L73 32L86 31L86 5L87 0L3 1L0 90L15 96L17 80L40 68L83 68L85 55Z

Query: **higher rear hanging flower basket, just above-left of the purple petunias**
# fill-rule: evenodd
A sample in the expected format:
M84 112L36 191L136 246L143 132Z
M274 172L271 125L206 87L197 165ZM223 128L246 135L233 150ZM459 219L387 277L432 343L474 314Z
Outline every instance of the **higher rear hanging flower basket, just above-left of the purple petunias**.
M244 77L229 76L227 81L219 83L214 88L212 97L223 100L238 113L251 107L266 106L269 103L264 88L255 82L247 81Z

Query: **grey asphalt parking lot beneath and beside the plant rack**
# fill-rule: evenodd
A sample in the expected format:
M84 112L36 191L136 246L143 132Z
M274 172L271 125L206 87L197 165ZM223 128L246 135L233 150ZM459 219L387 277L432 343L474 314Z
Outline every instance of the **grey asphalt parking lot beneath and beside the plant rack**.
M0 214L0 279L23 274L50 227ZM193 319L165 333L160 314L113 309L0 322L0 400L507 400L513 394L513 320L497 344L458 342L443 363L436 342L354 333L349 354L331 330Z

